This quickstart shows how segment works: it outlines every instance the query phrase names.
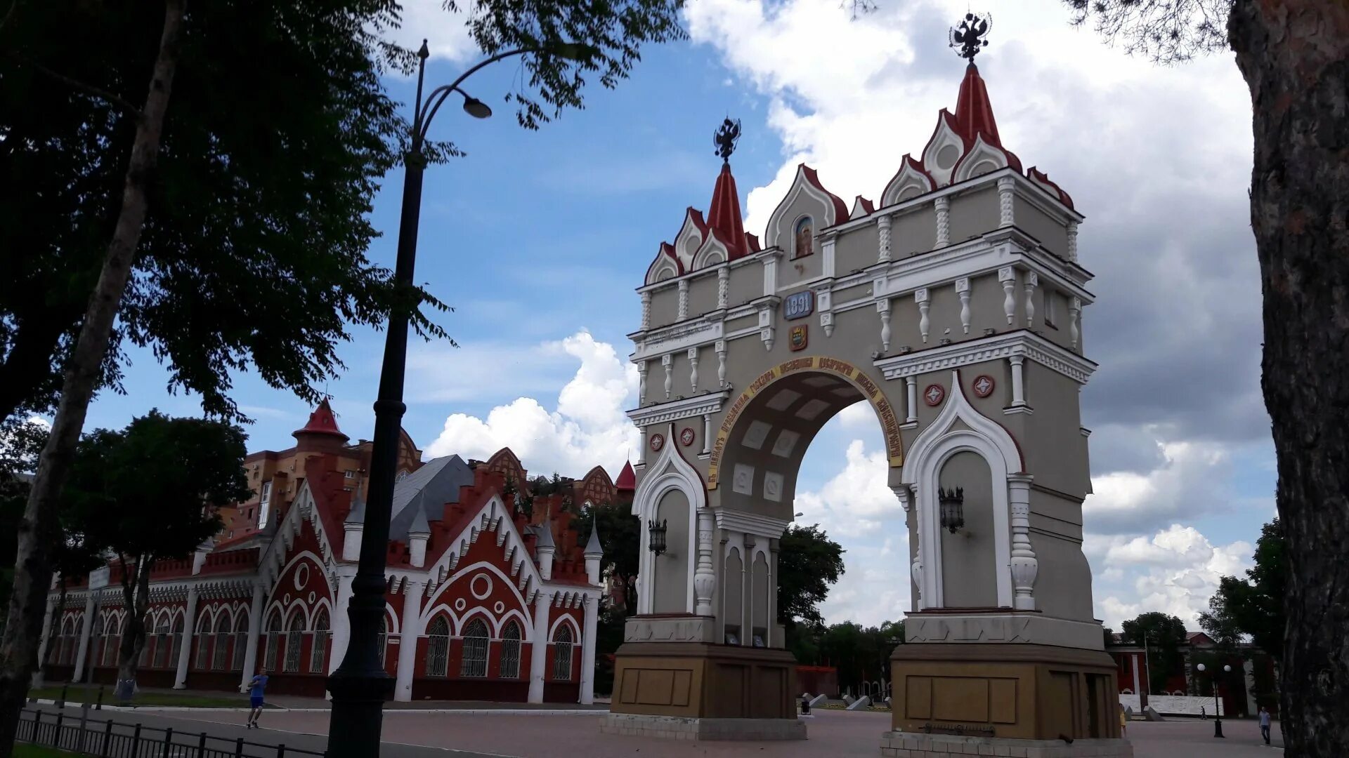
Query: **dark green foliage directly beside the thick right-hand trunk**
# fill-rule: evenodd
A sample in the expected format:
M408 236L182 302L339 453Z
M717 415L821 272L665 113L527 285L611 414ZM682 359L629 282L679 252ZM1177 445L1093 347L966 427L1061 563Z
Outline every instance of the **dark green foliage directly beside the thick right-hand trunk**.
M1246 571L1246 579L1218 580L1218 592L1209 599L1209 611L1199 614L1199 624L1221 645L1236 647L1249 635L1257 647L1282 660L1287 591L1287 545L1276 518L1260 530L1255 566Z

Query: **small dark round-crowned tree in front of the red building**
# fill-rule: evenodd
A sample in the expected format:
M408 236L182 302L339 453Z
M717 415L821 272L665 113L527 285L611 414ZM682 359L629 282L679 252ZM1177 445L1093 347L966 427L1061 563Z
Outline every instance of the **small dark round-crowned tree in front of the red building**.
M217 508L248 499L244 433L219 421L150 411L123 432L100 429L86 440L86 465L100 464L98 472L70 484L90 504L89 529L117 556L112 573L128 608L117 650L119 689L125 693L146 645L155 561L189 557L220 531Z

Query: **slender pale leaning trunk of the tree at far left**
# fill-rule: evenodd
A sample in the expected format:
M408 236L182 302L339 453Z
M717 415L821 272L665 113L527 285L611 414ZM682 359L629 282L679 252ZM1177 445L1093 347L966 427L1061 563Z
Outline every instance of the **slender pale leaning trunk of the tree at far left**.
M146 93L146 107L136 123L135 144L127 163L121 193L121 210L89 310L85 313L80 339L66 368L61 387L61 405L51 422L51 436L42 449L38 473L28 492L28 503L19 522L19 550L15 560L13 592L9 596L8 623L0 639L0 758L13 753L19 711L28 691L42 635L42 612L51 584L49 545L58 535L57 498L65 486L74 457L80 432L84 429L89 401L98 382L117 306L131 276L140 229L146 218L146 181L159 152L165 112L178 63L178 38L182 32L186 0L165 1L163 32Z

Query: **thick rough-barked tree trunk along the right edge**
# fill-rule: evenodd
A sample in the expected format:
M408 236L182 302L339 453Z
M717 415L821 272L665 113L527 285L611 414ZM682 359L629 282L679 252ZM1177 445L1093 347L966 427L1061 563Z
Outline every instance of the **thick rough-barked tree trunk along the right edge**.
M1290 757L1349 751L1349 4L1236 0L1255 108L1251 223L1287 530Z

